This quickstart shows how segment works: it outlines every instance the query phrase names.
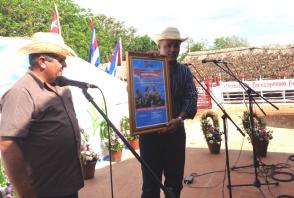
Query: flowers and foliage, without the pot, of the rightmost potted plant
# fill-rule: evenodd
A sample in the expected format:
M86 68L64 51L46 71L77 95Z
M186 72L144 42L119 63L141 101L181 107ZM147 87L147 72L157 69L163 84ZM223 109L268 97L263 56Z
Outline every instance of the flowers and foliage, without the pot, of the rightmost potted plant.
M242 124L246 133L249 135L248 141L251 142L252 138L256 141L269 142L273 139L273 131L266 128L265 121L258 117L256 113L252 114L253 117L253 129L250 127L250 113L248 111L243 112ZM252 134L253 131L253 134Z

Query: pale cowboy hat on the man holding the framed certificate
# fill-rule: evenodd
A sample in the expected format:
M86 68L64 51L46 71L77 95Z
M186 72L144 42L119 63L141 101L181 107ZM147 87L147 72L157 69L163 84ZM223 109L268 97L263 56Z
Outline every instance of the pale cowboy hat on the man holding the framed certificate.
M161 32L161 34L158 34L154 37L155 43L158 44L161 40L179 40L181 42L184 42L188 38L181 38L180 32L178 28L175 27L167 27L165 30Z

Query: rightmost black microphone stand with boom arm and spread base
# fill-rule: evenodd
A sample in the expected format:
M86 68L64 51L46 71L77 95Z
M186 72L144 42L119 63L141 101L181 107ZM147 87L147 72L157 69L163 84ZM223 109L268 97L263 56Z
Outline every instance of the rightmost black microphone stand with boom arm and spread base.
M255 150L255 139L256 139L256 134L254 133L254 118L253 118L253 105L252 103L254 102L259 109L264 113L264 111L261 109L261 107L256 103L256 101L253 98L252 93L254 93L256 96L261 97L263 100L265 100L267 103L269 103L271 106L273 106L275 109L279 109L277 106L275 106L273 103L269 102L266 98L264 98L263 96L261 96L260 94L258 94L256 91L254 91L249 85L247 85L246 83L242 82L240 79L238 79L234 73L230 70L230 68L228 67L228 63L227 62L220 62L223 63L226 67L226 69L224 69L223 67L221 67L218 62L213 62L216 66L218 66L220 69L222 69L224 72L226 72L227 74L229 74L231 77L234 78L235 81L237 81L241 87L246 91L247 95L248 95L248 99L249 99L249 117L250 117L250 129L251 129L251 143L252 143L252 150L253 150L253 166L254 166L254 174L255 174L255 181L253 184L239 184L239 185L232 185L232 187L241 187L241 186L255 186L257 188L260 188L261 185L271 185L271 184L275 184L278 185L278 182L268 182L266 181L266 183L261 183L258 179L258 173L257 173L257 168L260 166L260 162L257 160L256 157L256 150ZM265 114L265 113L264 113ZM250 165L252 166L252 165ZM243 166L243 167L249 167L249 166ZM237 168L243 168L243 167L233 167L232 170L237 169Z

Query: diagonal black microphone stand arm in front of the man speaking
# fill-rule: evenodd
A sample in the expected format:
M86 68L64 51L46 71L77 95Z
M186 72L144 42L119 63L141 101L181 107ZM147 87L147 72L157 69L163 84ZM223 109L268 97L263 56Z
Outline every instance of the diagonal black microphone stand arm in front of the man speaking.
M88 88L83 88L83 94L87 98L87 100L93 104L96 110L100 113L100 115L105 119L107 124L113 129L113 131L117 134L117 136L123 141L123 143L127 146L127 148L132 152L132 154L136 157L136 159L143 165L143 168L147 170L149 176L156 182L160 188L164 191L165 195L170 198L175 198L174 194L170 191L170 189L166 188L158 177L155 175L153 170L149 167L149 165L138 155L138 153L132 148L129 142L125 139L125 137L118 131L118 129L114 126L114 124L109 120L109 118L105 115L105 113L98 107L95 103L93 97L87 92Z

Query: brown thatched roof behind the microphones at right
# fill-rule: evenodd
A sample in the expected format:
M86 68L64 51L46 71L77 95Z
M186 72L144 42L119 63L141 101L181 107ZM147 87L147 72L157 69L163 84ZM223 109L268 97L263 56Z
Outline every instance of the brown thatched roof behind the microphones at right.
M242 47L222 50L190 52L184 62L192 63L200 78L214 78L221 74L222 80L232 80L214 63L203 64L203 59L223 60L238 77L246 80L257 78L277 79L294 77L294 44L286 46ZM191 67L192 72L198 72Z

